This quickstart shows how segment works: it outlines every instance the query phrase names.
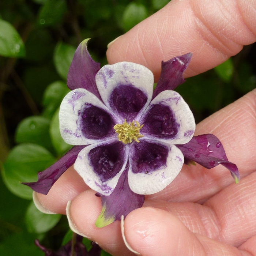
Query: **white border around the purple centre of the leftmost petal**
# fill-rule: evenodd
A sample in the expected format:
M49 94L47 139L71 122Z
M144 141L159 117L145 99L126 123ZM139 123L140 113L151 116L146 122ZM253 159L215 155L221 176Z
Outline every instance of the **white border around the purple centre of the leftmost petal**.
M79 125L80 112L86 103L109 114L106 106L93 93L82 88L69 92L61 102L59 120L61 136L70 145L88 145L101 140L86 138Z

